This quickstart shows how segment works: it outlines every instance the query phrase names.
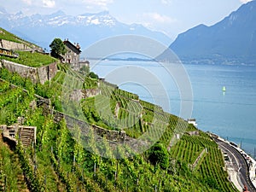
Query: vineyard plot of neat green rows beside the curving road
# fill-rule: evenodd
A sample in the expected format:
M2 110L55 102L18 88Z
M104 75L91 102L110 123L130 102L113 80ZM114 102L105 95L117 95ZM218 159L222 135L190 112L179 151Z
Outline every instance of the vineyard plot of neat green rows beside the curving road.
M202 153L205 152L205 153ZM224 160L217 144L201 132L200 136L184 135L170 150L172 158L182 160L189 165L191 171L198 174L203 183L218 191L237 191L229 183L228 174L224 172ZM195 164L197 158L198 163Z

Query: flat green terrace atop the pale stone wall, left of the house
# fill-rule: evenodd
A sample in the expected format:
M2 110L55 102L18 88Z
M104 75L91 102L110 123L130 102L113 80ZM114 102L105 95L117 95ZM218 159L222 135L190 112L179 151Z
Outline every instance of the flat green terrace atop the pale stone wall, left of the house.
M37 52L16 51L19 54L18 58L9 58L8 56L0 55L0 60L13 61L28 67L42 67L57 61L54 57L43 55Z

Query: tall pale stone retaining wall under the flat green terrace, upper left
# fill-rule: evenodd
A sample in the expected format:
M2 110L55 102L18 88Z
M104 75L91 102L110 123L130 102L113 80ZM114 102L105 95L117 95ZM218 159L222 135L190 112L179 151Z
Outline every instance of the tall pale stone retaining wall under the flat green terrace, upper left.
M1 61L0 67L7 68L11 73L19 73L23 78L32 79L33 83L44 84L47 80L53 79L57 73L57 64L51 63L43 67L27 67L12 61Z

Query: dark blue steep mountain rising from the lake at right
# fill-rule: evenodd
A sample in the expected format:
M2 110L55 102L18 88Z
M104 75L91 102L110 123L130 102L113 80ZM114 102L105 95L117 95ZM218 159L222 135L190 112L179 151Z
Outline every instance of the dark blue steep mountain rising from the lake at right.
M177 36L170 48L183 61L253 64L256 61L256 1L241 5L213 26Z

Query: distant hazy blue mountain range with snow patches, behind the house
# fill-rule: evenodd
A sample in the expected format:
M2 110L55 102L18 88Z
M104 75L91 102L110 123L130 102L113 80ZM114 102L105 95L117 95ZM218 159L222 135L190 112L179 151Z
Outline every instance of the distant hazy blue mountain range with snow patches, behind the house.
M166 46L172 41L162 32L150 31L142 25L121 23L108 11L76 16L58 11L51 15L28 16L22 12L15 15L8 14L6 10L0 9L0 23L1 27L9 32L46 49L49 49L50 42L56 37L79 42L82 49L102 38L122 34L143 35L160 41Z

